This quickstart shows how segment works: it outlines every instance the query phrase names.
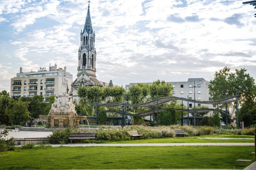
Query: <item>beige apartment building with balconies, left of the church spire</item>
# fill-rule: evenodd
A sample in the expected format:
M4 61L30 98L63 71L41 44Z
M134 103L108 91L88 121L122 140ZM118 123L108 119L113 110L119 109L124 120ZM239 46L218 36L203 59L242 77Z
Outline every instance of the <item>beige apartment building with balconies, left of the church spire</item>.
M43 95L45 102L49 102L49 96L59 94L62 84L62 77L67 79L67 87L71 88L73 75L64 69L57 68L57 64L38 71L22 72L20 67L16 77L11 79L11 97L33 97ZM69 89L67 89L69 90Z

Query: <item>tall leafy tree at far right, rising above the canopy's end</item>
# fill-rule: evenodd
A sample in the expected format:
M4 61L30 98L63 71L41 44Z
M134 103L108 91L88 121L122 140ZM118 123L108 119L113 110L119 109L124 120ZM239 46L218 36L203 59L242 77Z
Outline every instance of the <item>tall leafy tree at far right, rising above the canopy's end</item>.
M235 69L235 72L231 72L229 67L224 67L215 72L214 79L210 81L208 88L213 100L216 100L217 97L218 99L224 99L226 93L227 97L234 96L237 92L240 95L238 104L243 107L239 113L239 121L244 120L246 124L249 124L248 121L250 119L247 120L246 115L251 106L254 105L256 85L253 77L246 71L243 68ZM225 104L219 105L219 108L225 108L225 106ZM221 114L221 117L221 120L225 122L226 116Z

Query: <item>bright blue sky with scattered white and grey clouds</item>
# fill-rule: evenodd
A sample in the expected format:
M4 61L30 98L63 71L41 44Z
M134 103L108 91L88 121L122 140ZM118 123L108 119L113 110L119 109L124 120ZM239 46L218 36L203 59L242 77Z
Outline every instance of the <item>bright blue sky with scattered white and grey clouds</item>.
M223 67L256 78L256 18L246 0L91 0L97 79L210 80ZM76 78L85 0L0 0L0 91L19 67L57 63Z

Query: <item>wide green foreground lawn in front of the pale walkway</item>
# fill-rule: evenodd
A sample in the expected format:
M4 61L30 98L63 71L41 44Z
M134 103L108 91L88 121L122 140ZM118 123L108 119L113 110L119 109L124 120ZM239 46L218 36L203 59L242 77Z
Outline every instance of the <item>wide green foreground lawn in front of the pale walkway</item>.
M0 169L243 169L253 146L54 147L0 153Z

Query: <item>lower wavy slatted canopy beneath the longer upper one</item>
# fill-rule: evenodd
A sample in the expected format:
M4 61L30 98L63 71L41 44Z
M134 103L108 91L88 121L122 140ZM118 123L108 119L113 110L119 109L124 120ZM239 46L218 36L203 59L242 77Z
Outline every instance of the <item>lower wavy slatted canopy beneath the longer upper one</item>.
M158 111L163 111L166 112L168 110L175 110L175 111L183 111L183 112L194 112L194 110L185 110L185 109L158 109ZM226 111L220 110L220 109L216 109L217 111L220 111L221 113L223 113L226 116L230 116L229 114L226 113ZM121 115L126 115L126 116L149 116L150 114L153 114L154 112L156 112L157 109L154 110L150 110L150 111L145 111L145 112L140 112L140 113L136 113L136 114L131 114L129 112L122 112L122 111L107 111L110 113L117 113L117 114L121 114ZM203 112L210 112L210 111L215 111L215 109L195 109L196 113L203 113Z

